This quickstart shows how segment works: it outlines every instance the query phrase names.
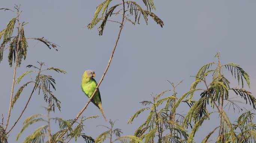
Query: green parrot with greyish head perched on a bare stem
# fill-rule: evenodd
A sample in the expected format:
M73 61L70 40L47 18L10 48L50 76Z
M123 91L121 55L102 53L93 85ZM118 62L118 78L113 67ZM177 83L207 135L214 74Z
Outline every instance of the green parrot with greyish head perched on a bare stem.
M95 77L95 73L93 70L86 70L82 76L81 88L83 90L83 93L85 93L85 95L88 96L88 98L90 98L92 96L92 93L94 92L95 88L98 85L93 77ZM100 109L101 114L103 115L104 119L106 120L103 109L101 107L101 98L100 98L100 90L99 89L93 96L91 102Z

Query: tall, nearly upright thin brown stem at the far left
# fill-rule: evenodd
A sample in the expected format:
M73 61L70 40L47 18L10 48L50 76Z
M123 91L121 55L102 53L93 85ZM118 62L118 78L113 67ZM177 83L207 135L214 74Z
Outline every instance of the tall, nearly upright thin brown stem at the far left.
M12 90L11 90L11 94L10 94L10 103L9 103L9 111L8 111L8 115L7 115L7 119L6 119L6 125L4 130L6 130L8 123L9 123L9 119L10 119L10 112L11 112L11 105L12 105L12 96L13 96L13 88L14 88L14 83L15 83L15 76L16 76L16 68L18 65L18 52L19 52L19 10L17 12L17 20L18 20L18 37L17 37L17 46L16 46L16 54L15 54L15 66L13 68L13 78L12 78Z

